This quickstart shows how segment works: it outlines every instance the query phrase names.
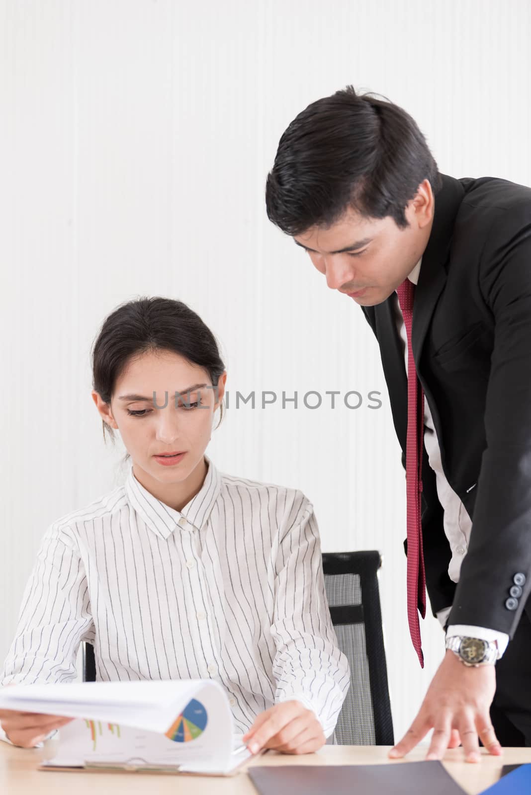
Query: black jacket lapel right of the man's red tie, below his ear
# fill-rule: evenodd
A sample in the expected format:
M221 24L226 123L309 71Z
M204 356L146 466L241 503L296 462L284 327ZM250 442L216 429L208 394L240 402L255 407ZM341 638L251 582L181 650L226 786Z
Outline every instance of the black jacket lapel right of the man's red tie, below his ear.
M413 304L412 344L413 358L417 363L417 369L421 361L426 333L446 282L444 266L448 260L452 243L455 215L457 215L459 204L464 196L463 186L459 180L446 174L441 174L441 176L443 185L436 194L432 231L428 245L422 254L421 273Z

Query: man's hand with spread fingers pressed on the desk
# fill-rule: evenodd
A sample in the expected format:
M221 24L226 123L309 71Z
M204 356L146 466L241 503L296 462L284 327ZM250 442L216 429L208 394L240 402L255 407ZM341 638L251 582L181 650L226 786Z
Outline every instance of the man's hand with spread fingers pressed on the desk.
M490 722L490 704L496 689L494 665L469 667L447 650L417 717L390 750L390 757L407 754L433 728L427 759L442 759L447 748L455 748L458 737L463 743L467 762L479 762L478 735L486 750L494 756L502 747Z

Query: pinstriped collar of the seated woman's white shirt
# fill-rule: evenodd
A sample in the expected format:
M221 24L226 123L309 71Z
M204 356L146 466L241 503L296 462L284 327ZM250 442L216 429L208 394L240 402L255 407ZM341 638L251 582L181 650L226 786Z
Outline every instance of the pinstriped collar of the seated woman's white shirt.
M184 522L179 524L182 518L199 530L207 523L221 491L221 476L208 456L204 456L204 458L208 469L203 486L182 511L170 508L165 502L161 502L145 489L135 478L133 464L131 464L125 483L126 494L131 506L149 529L153 530L153 533L157 533L162 538L168 538L178 526L183 526Z

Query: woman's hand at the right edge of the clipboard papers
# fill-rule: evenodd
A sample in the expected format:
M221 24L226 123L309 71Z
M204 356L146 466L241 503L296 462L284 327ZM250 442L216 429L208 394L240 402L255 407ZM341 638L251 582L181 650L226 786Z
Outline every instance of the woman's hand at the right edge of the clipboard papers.
M315 712L300 701L275 704L258 715L243 742L251 753L273 748L284 754L312 754L324 745L323 727Z

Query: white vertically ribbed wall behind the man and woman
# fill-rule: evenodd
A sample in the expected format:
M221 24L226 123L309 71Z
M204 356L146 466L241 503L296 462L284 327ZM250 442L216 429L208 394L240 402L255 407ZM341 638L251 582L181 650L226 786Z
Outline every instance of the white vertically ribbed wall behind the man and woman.
M405 107L440 169L531 184L526 0L0 0L0 657L45 526L120 481L89 349L141 294L219 336L227 387L382 391L382 409L229 409L209 454L303 489L325 550L380 549L393 717L409 725L442 657L405 616L405 478L378 350L266 217L292 118L353 83ZM327 398L328 400L328 398Z

